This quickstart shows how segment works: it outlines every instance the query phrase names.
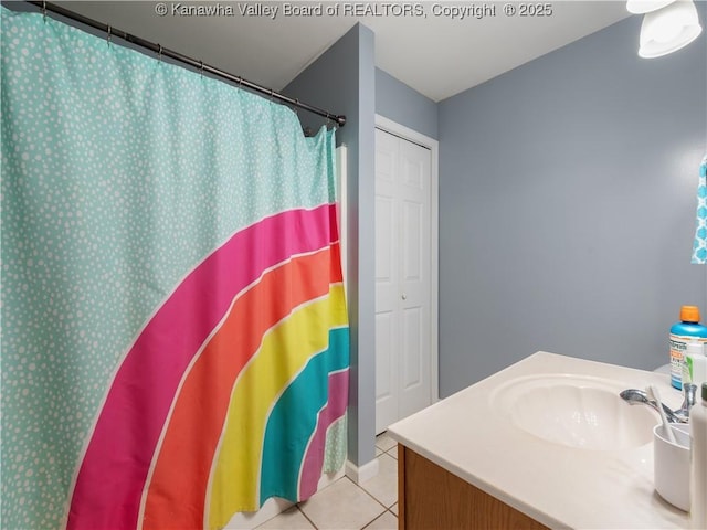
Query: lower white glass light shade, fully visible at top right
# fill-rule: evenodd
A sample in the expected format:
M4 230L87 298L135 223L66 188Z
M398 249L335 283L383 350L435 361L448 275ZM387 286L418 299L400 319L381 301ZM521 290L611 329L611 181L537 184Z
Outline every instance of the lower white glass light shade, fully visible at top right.
M671 1L643 17L639 55L647 59L667 55L685 47L701 31L697 8L692 0Z

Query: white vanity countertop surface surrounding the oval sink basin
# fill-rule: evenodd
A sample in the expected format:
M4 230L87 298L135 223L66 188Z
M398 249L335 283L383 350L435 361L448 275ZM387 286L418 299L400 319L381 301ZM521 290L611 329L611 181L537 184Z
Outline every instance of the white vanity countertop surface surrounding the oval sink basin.
M573 448L540 439L497 413L495 389L537 374L602 378L623 389L652 383L671 409L682 403L665 374L540 351L391 425L388 433L550 528L688 528L688 515L654 491L652 437L622 451Z

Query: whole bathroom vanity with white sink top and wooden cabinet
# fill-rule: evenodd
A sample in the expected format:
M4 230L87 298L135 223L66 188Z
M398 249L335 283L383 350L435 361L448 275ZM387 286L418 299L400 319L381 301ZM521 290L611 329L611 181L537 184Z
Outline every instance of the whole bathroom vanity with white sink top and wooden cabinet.
M401 529L684 529L653 487L657 413L619 398L665 374L537 352L391 425Z

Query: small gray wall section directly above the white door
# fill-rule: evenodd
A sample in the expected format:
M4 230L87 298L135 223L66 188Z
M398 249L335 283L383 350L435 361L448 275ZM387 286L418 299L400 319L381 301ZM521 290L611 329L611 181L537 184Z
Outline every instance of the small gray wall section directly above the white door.
M376 114L437 139L437 104L376 68Z

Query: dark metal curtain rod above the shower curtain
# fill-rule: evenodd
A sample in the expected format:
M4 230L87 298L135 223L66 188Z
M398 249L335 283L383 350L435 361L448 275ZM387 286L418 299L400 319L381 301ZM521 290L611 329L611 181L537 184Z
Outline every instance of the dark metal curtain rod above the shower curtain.
M130 33L127 33L122 30L117 30L108 24L103 24L96 20L89 19L74 11L70 11L68 9L65 9L55 3L45 2L41 0L40 1L25 0L25 1L28 3L31 3L32 6L40 8L42 10L42 13L44 13L45 15L46 15L46 11L61 14L62 17L66 17L68 19L75 20L76 22L81 22L82 24L86 24L86 25L89 25L91 28L103 31L108 34L108 38L110 38L112 35L115 35L131 44L137 44L138 46L146 47L147 50L150 50L157 54L173 59L175 61L179 61L180 63L188 64L189 66L198 68L200 72L209 72L210 74L213 74L217 77L221 77L223 80L228 80L233 83L236 83L239 86L245 86L252 91L258 92L271 98L286 103L287 105L292 105L297 108L307 110L309 113L323 116L327 119L335 121L339 127L342 127L346 124L346 116L344 115L331 114L327 110L315 107L314 105L302 103L299 99L293 99L292 97L281 94L279 92L275 92L272 88L266 88L262 85L258 85L257 83L253 83L252 81L247 81L242 77L238 77L235 75L229 74L228 72L223 72L222 70L219 70L214 66L204 64L203 61L197 61L179 52L168 50L167 47L162 47L160 44L155 44L154 42L146 41L145 39L140 39L139 36L131 35Z

